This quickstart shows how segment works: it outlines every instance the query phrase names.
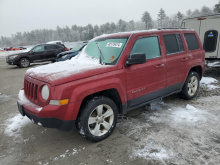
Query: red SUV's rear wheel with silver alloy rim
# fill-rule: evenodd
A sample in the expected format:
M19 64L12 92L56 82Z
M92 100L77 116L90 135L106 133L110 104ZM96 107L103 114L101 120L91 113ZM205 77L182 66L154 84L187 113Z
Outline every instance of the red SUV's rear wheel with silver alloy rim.
M193 99L199 91L199 81L198 73L190 72L180 93L181 98L185 100Z

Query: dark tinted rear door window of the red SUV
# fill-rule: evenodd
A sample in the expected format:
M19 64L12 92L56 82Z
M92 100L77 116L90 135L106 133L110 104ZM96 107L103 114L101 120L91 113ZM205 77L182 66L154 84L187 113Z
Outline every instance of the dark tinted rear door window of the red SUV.
M184 51L183 42L179 34L167 34L163 38L168 55Z

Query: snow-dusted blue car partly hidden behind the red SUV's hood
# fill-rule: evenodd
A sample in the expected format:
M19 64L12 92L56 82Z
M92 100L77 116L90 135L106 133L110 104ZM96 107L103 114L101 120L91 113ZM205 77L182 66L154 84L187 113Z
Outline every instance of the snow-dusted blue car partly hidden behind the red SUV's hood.
M70 60L72 57L75 57L79 52L87 45L87 43L77 43L69 51L61 52L57 55L57 61Z

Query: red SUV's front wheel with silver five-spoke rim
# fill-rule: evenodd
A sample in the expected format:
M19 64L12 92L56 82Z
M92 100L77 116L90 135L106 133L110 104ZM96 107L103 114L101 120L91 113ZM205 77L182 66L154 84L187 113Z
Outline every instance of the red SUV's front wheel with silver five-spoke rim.
M108 97L97 96L86 102L76 121L82 137L92 142L107 138L115 129L118 108Z

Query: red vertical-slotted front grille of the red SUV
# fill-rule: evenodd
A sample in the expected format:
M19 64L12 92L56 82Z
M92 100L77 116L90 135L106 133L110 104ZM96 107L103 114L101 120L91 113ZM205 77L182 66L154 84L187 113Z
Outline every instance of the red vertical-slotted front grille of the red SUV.
M24 92L25 96L33 103L37 103L38 85L24 80Z

